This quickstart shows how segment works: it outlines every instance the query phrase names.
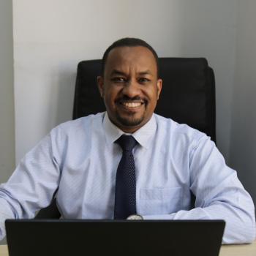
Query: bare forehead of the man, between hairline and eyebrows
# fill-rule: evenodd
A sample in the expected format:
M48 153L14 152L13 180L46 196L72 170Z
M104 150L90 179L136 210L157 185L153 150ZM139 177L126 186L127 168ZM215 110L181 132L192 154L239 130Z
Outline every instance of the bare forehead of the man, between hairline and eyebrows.
M122 72L141 72L149 70L157 76L157 62L153 53L143 46L122 46L110 50L105 64L105 75L113 69Z

